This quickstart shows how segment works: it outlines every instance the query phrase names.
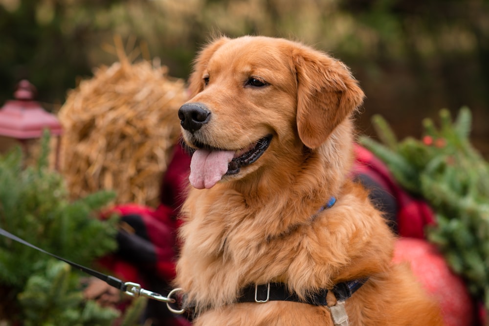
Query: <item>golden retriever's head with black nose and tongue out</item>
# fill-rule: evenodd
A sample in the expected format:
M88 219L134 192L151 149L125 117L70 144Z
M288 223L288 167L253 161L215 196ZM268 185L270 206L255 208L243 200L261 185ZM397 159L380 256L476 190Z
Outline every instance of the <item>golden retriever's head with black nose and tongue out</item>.
M341 62L284 39L222 37L194 64L178 117L200 189L316 150L364 96Z

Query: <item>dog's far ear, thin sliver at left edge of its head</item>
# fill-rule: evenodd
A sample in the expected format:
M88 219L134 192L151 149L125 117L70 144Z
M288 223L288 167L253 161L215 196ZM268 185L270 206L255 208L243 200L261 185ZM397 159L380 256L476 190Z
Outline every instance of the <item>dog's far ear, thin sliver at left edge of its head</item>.
M224 36L215 38L213 41L205 45L199 52L194 60L192 73L188 79L190 97L194 97L197 95L197 93L200 93L204 89L204 81L202 80L203 71L207 67L207 64L209 63L209 60L214 52L216 52L216 50L228 40L229 39Z

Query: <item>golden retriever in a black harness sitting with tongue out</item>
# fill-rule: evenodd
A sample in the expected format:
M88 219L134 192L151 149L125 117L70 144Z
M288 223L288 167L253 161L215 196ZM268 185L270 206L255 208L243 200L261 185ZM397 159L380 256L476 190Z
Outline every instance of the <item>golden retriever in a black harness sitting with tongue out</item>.
M195 325L442 325L349 177L364 94L344 64L285 39L220 37L189 84L178 116L193 187L176 283ZM336 298L352 283L363 285ZM256 302L242 300L250 288ZM327 302L311 303L318 294Z

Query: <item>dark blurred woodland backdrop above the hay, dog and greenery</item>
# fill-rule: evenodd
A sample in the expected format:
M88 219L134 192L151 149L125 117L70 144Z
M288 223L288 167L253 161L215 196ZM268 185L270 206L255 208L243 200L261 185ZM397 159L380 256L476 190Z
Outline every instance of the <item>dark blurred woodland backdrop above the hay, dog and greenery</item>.
M0 105L26 78L55 112L118 60L114 35L130 59L157 57L186 79L215 33L291 38L344 61L367 96L360 133L374 135L380 113L400 138L419 137L424 117L468 106L489 156L489 0L0 0Z

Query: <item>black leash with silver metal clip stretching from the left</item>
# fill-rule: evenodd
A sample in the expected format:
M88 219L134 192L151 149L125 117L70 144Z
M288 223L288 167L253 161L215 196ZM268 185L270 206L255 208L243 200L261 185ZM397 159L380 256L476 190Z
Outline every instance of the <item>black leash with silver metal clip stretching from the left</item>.
M168 295L168 298L167 297L164 297L162 296L161 294L158 294L156 292L152 292L152 291L148 291L148 290L145 290L143 288L141 288L141 285L140 284L137 284L137 283L132 283L132 282L122 282L121 280L113 277L113 276L110 276L110 275L106 275L106 274L103 274L103 273L100 273L96 270L93 270L91 268L88 268L88 267L85 267L85 266L82 266L80 264L77 264L76 262L73 262L73 261L68 261L67 259L64 259L63 257L60 257L60 256L57 256L57 255L54 255L50 252L47 252L45 251L44 249L41 249L39 247L36 247L35 245L17 237L17 236L14 236L13 234L3 230L2 228L0 228L0 235L8 238L8 239L12 239L14 241L17 241L19 243L22 243L23 245L26 245L28 247L31 247L32 249L35 249L35 250L38 250L44 254L47 254L51 257L54 257L60 261L64 261L66 262L67 264L73 266L73 267L76 267L78 268L79 270L81 270L82 272L84 273L87 273L91 276L94 276L96 277L97 279L99 280L102 280L104 281L105 283L109 284L110 286L113 286L115 287L116 289L124 292L125 294L131 296L131 297L139 297L139 296L143 296L143 297L147 297L147 298L150 298L150 299L154 299L154 300L157 300L157 301L161 301L161 302L165 302L167 305L168 305L168 308L172 311L172 312L179 312L179 310L175 310L173 308L170 307L169 304L173 304L176 302L175 299L172 299L171 296L179 291L179 289L174 289L170 292L170 294ZM183 312L183 311L182 311ZM181 313L181 312L180 312Z

